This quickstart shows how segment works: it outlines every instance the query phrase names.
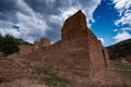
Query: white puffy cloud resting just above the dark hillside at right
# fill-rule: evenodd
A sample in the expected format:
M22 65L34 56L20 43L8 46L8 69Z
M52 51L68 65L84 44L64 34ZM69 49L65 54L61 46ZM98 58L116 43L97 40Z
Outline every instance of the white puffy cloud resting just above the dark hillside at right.
M129 34L128 32L118 33L117 36L114 37L114 39L117 42L129 39L129 38L131 38L131 34Z

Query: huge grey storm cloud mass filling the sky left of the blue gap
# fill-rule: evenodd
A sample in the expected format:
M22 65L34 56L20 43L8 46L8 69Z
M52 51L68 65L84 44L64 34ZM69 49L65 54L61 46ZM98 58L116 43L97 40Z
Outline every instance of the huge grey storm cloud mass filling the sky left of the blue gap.
M0 33L31 42L41 37L56 41L68 16L82 9L93 20L99 3L100 0L0 0ZM15 24L20 30L12 28Z

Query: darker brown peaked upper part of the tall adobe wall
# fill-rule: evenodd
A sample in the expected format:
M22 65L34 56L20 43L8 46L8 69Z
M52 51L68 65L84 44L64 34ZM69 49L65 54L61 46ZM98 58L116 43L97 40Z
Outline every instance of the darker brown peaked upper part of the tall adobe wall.
M70 16L63 24L61 29L62 42L70 42L76 39L87 37L86 18L82 11L79 11L74 15Z

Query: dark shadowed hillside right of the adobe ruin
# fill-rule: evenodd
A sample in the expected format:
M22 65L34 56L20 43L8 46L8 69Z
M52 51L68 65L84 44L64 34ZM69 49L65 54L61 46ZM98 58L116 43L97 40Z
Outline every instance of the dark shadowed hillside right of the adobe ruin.
M127 58L131 57L131 39L120 41L116 45L107 47L109 52L109 58L116 60L117 58ZM131 58L130 58L131 59Z

